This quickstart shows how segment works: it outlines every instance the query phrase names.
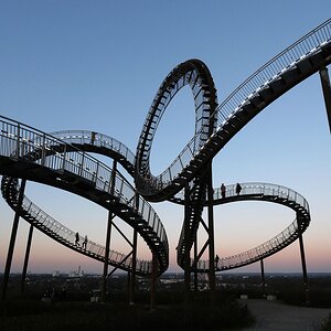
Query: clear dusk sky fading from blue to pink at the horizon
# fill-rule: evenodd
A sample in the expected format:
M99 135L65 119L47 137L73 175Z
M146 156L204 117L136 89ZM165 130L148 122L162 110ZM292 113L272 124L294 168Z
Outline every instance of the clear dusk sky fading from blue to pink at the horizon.
M179 63L200 58L222 102L252 73L329 19L330 0L0 0L0 115L45 132L86 129L136 151L142 124L161 82ZM194 106L183 88L156 134L151 169L160 173L194 132ZM303 235L309 273L331 273L330 130L319 75L269 105L215 157L217 188L267 182L298 191L309 202ZM105 160L111 164L111 160ZM55 220L105 243L107 211L58 189L28 182L26 196ZM180 271L175 247L183 207L152 203L168 234L169 271ZM13 212L0 200L0 273L4 270ZM220 257L253 248L295 220L285 206L241 202L215 207ZM130 236L121 220L116 223ZM21 273L29 224L20 221L12 271ZM202 244L203 231L199 233ZM150 259L139 238L138 258ZM114 232L111 249L128 245ZM103 265L34 231L29 270L68 273ZM259 264L236 271L258 271ZM301 270L299 244L265 260L265 271Z

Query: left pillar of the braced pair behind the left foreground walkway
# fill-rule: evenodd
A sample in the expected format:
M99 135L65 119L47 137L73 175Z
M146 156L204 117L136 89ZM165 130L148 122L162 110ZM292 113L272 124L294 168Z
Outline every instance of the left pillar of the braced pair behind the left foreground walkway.
M110 178L110 194L114 194L115 180L116 180L116 169L117 169L117 161L114 160L111 178ZM107 275L108 275L108 263L109 263L113 218L114 218L114 214L109 211L108 212L108 221L107 221L105 261L104 261L103 286L102 286L102 301L103 302L106 302L106 293L107 293L107 278L108 278Z

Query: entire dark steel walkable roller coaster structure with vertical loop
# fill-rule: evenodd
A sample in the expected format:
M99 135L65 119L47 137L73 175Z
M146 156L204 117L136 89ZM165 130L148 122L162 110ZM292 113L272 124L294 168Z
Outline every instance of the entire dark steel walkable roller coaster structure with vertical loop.
M331 88L327 66L331 63L331 19L313 29L296 43L261 66L220 105L207 66L189 60L173 68L162 82L145 120L134 153L122 142L99 132L75 130L46 134L13 119L0 117L1 191L15 212L6 264L2 298L6 296L15 233L20 217L54 241L104 263L104 291L108 265L136 275L156 279L168 269L169 245L164 226L149 202L170 201L184 206L184 222L177 247L178 264L185 273L186 288L191 273L209 273L210 288L215 286L215 271L263 261L299 238L303 276L306 273L302 233L309 226L306 199L291 189L269 183L227 185L225 192L213 188L212 161L222 148L269 104L309 76L320 73L329 125L331 128ZM150 171L150 152L158 125L168 105L182 87L192 90L195 105L195 135L175 160L160 174ZM90 153L113 159L113 168ZM126 170L122 174L117 164ZM131 175L135 184L126 179ZM54 220L24 195L26 181L58 188L109 211L106 245L87 241L76 245L75 232ZM268 201L295 211L295 221L280 234L235 256L215 258L213 206L235 201ZM202 212L207 209L207 222ZM131 252L109 249L110 226L115 216L134 228ZM200 226L207 239L200 252L196 233ZM137 258L137 235L152 252L152 260ZM81 238L83 242L84 238ZM30 246L30 245L28 245ZM194 256L191 250L194 246ZM209 248L209 259L202 256ZM26 248L25 264L30 247ZM109 276L109 275L108 275ZM23 275L24 279L25 275ZM307 282L307 281L305 281ZM132 281L134 287L134 281Z

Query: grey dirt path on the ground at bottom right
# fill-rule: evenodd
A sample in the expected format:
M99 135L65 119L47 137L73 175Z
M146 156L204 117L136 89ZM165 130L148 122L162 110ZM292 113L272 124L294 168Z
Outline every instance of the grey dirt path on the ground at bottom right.
M255 325L243 331L319 331L331 309L296 307L279 301L241 300L256 318Z

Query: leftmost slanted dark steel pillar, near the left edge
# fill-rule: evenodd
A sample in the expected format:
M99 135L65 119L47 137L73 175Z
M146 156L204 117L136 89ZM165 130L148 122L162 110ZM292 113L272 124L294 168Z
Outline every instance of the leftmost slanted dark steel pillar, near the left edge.
M19 192L18 205L17 205L14 221L13 221L12 231L11 231L10 243L9 243L9 247L8 247L6 268L4 268L4 273L3 273L1 300L6 299L9 274L10 274L12 256L13 256L13 250L14 250L15 239L17 239L17 233L18 233L18 227L19 227L20 211L21 211L22 202L23 202L23 197L24 197L25 183L26 183L26 180L22 179L21 188L20 188L20 192Z

